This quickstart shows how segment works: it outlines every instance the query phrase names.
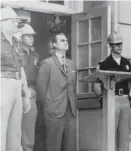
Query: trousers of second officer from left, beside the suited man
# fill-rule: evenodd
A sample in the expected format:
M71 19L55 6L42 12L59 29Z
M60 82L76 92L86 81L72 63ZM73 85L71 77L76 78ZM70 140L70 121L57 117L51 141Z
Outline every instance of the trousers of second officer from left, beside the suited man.
M29 85L29 88L34 91L34 96L35 96L35 85ZM31 95L33 96L33 94ZM33 151L34 148L35 123L36 123L36 116L37 116L36 98L32 97L30 101L31 101L31 110L28 113L23 114L23 118L22 118L21 144L23 147L23 151Z

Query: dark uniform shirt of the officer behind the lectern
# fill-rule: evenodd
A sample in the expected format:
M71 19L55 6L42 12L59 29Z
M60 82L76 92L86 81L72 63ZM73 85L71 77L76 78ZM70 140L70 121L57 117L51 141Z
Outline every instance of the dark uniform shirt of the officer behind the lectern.
M107 57L104 61L100 62L100 70L110 70L110 71L124 71L124 72L131 72L131 65L130 62L121 57L120 65L113 59L112 55ZM116 83L115 89L123 89L125 94L129 94L128 88L129 80L124 80L121 82Z

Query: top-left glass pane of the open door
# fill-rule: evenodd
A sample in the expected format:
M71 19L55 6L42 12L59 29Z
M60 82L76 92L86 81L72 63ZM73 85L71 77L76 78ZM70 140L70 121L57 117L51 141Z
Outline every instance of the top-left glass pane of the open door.
M78 26L78 38L79 38L79 44L88 42L88 33L89 33L89 21L84 20L79 22Z

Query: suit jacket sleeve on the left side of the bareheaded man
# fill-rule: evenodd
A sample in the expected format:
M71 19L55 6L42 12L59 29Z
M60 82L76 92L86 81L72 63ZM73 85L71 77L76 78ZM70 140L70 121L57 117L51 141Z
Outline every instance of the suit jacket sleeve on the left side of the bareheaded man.
M45 61L40 65L38 76L36 79L36 90L38 93L38 99L44 101L47 94L48 84L49 84L49 64Z

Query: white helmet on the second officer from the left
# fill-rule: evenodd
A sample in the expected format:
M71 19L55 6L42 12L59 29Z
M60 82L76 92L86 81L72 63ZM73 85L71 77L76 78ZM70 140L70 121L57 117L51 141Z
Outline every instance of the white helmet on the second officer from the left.
M34 35L34 34L36 34L36 32L34 31L34 29L29 24L24 24L24 27L20 28L19 32L22 35L27 35L27 34Z

